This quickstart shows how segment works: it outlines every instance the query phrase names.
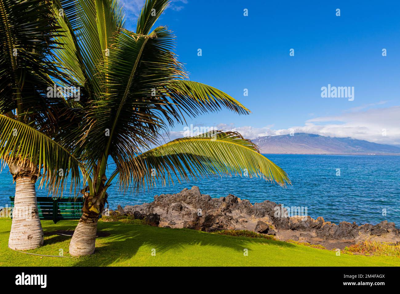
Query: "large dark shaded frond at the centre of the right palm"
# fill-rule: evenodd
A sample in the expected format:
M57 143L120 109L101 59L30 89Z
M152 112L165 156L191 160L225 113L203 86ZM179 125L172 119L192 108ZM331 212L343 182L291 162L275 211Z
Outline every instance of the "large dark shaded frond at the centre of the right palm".
M88 109L85 124L90 158L107 152L114 160L127 160L165 132L180 113L168 97L154 94L160 83L186 76L171 52L173 37L164 27L142 36L123 30L108 57L106 88L102 100ZM109 130L109 136L105 136ZM98 146L103 146L100 150Z

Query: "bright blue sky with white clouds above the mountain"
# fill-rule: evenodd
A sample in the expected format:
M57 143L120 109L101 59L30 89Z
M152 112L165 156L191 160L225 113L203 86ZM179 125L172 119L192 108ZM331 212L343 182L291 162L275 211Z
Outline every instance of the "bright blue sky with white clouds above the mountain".
M135 31L144 0L122 2ZM400 146L399 15L398 1L172 0L156 26L176 35L190 80L252 111L222 110L189 126L250 139L294 131ZM352 98L322 97L328 85L350 87Z

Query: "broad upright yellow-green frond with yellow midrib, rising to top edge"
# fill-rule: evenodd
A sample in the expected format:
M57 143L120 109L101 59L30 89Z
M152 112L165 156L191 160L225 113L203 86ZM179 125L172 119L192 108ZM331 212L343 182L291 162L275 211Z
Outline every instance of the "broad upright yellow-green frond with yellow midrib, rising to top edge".
M107 92L104 82L108 55L114 50L114 38L124 26L122 5L118 0L60 0L60 3L68 19L67 25L72 28L78 43L79 58L85 66L84 90L92 100L102 99ZM63 64L60 58L60 63L68 68L68 59ZM70 70L73 72L73 68Z

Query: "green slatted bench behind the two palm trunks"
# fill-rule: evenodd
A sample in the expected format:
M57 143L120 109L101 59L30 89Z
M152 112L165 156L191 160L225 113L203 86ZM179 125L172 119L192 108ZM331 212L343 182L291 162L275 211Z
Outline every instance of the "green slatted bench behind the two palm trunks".
M10 200L11 206L14 206L14 197L10 196ZM59 220L79 220L82 216L83 197L37 197L37 201L41 220L53 220L55 224Z

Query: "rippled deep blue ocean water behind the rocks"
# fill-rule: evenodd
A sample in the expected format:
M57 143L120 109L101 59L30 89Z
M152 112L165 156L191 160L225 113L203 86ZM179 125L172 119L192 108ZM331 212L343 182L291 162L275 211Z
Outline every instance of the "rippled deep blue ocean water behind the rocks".
M110 208L118 204L151 202L154 195L173 194L199 186L213 198L234 194L251 203L264 200L287 206L307 207L312 218L326 221L376 224L382 220L400 226L400 156L339 156L265 154L289 175L292 185L281 188L260 178L219 177L191 180L183 184L156 187L150 191L122 193L108 189ZM340 176L338 175L340 169ZM112 172L112 169L110 169ZM15 186L8 169L0 174L0 206L10 205ZM47 196L38 190L38 196ZM386 216L382 215L386 210Z

